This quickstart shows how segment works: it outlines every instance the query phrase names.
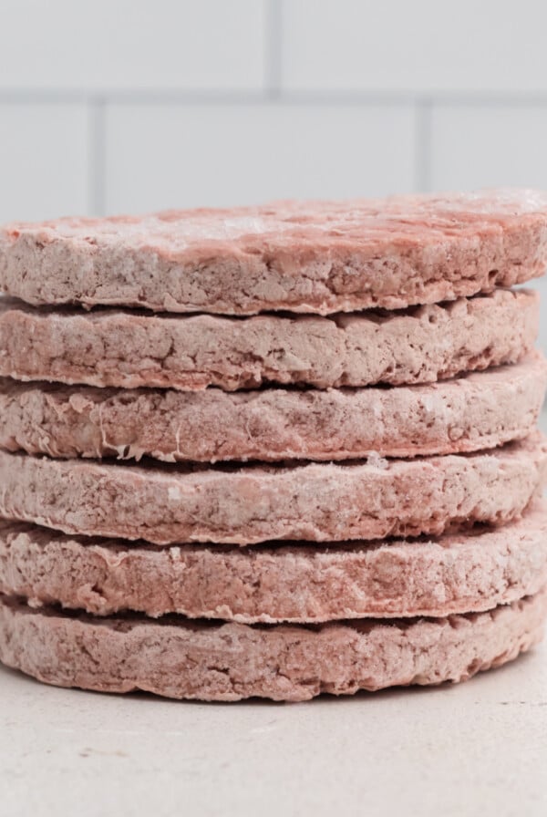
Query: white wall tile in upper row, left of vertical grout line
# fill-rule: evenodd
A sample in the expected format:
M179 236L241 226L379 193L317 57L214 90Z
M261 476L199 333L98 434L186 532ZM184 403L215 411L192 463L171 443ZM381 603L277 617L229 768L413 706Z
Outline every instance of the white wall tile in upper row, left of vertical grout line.
M0 9L0 88L263 88L256 0L2 0Z

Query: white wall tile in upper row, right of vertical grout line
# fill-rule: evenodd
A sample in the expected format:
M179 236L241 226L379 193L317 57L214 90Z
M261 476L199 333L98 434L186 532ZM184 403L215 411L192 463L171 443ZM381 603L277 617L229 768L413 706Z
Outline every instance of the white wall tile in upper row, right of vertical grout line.
M284 88L547 91L542 0L284 0Z

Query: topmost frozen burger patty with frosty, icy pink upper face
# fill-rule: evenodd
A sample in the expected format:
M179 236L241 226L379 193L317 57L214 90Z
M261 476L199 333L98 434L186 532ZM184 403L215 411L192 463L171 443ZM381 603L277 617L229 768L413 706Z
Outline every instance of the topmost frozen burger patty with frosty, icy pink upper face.
M547 195L386 200L11 224L0 286L30 304L251 315L397 309L543 274Z

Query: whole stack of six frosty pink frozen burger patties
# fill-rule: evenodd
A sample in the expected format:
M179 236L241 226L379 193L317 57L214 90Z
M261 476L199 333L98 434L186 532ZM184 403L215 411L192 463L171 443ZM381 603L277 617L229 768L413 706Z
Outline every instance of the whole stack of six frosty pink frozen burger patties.
M304 700L534 645L546 264L532 191L6 227L0 659Z

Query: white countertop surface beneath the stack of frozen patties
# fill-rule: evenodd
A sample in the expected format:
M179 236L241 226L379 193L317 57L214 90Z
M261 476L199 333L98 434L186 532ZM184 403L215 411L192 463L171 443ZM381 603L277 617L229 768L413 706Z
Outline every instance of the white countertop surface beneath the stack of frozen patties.
M0 667L2 817L544 817L547 645L466 684L198 704Z

